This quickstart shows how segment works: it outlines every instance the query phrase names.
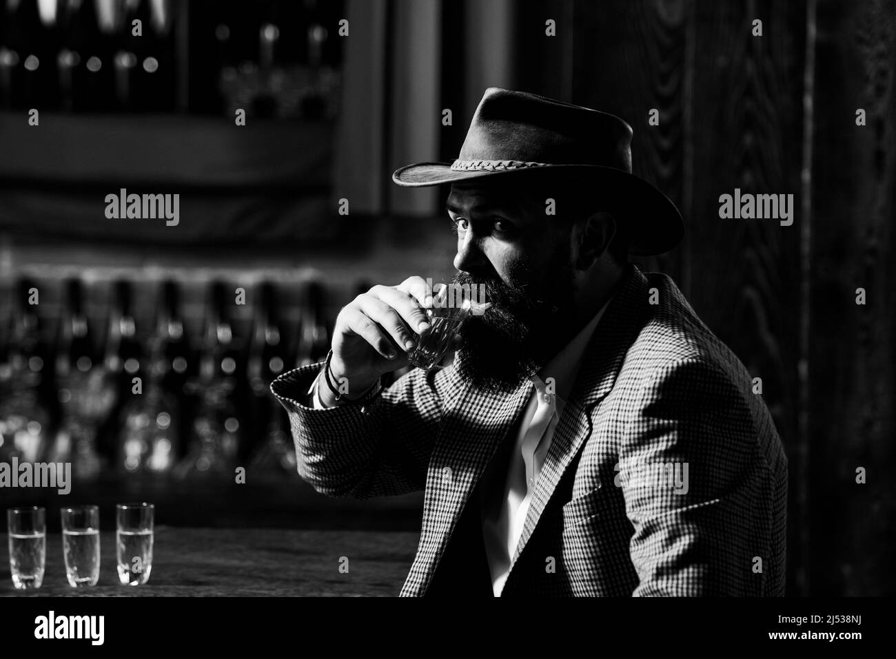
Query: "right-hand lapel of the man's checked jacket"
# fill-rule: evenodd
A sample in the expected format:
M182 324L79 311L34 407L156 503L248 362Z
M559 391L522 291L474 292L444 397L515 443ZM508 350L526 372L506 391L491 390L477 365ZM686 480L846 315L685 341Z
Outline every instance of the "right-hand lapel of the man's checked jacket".
M551 445L538 474L529 511L523 523L520 542L513 556L512 573L513 564L538 526L538 519L566 468L593 432L593 412L613 389L616 375L625 360L625 353L637 338L649 313L647 300L647 278L637 266L630 264L616 296L594 330L582 357L582 367L576 376L573 390L551 438Z

